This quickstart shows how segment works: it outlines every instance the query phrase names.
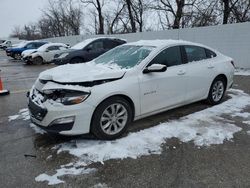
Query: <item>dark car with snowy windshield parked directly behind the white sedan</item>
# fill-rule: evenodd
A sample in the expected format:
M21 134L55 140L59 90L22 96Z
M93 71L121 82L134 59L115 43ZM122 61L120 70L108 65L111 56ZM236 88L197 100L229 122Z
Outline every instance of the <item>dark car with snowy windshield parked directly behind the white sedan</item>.
M91 38L80 42L69 50L55 56L54 63L63 65L67 63L81 63L91 61L108 50L126 43L118 38Z

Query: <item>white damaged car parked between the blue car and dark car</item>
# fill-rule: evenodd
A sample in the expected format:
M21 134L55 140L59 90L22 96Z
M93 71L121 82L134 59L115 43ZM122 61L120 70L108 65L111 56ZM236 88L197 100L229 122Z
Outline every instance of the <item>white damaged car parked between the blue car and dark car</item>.
M69 46L63 43L48 43L26 55L23 59L27 64L50 63L56 54L68 48Z

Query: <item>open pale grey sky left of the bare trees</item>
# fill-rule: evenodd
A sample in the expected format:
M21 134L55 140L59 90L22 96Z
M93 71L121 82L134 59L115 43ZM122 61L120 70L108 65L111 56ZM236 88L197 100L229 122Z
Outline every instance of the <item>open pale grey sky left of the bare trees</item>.
M8 37L15 26L36 22L48 0L0 0L0 37Z

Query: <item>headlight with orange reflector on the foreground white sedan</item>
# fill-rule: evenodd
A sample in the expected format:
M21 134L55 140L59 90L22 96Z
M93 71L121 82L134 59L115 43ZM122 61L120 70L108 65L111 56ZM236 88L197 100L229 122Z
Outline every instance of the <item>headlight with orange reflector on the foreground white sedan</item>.
M82 103L88 98L90 93L73 90L45 90L44 93L48 99L52 99L64 105L74 105Z

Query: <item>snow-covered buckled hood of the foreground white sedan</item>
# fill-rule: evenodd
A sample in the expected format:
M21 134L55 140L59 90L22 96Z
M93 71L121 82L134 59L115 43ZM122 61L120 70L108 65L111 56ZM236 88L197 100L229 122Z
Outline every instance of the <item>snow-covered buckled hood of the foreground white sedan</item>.
M46 70L40 73L39 79L70 84L121 78L125 72L126 69L121 69L118 66L95 64L92 61L80 64L67 64Z

